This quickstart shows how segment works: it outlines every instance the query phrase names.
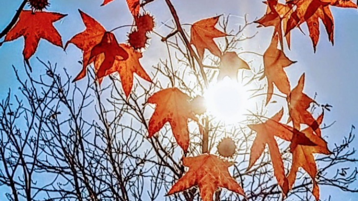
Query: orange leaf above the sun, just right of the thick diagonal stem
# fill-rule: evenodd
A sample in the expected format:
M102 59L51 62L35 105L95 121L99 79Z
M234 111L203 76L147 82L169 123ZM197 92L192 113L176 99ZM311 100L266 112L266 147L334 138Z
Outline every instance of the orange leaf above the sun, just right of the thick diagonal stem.
M190 43L195 46L199 58L204 58L204 50L208 49L213 55L220 57L221 51L215 44L214 38L227 36L215 28L220 16L208 18L195 22L191 26Z

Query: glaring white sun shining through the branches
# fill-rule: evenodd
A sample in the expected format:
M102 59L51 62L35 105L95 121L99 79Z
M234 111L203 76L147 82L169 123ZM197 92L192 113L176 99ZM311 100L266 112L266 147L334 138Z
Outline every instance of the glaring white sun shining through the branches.
M204 93L208 112L220 121L235 123L245 120L249 94L237 81L225 78Z

